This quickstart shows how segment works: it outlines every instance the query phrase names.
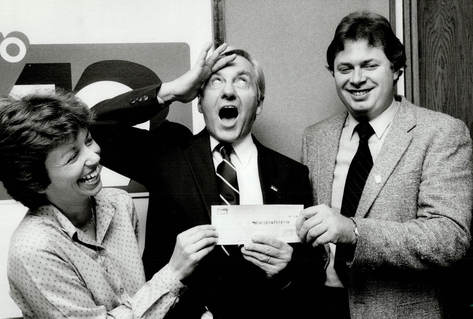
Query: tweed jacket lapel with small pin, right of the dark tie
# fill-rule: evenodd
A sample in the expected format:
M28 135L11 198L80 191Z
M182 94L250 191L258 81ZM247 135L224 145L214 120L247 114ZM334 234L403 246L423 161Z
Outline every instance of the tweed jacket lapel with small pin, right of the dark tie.
M411 130L416 125L416 121L409 104L405 98L402 99L376 162L366 180L355 217L366 216L386 180L412 141Z

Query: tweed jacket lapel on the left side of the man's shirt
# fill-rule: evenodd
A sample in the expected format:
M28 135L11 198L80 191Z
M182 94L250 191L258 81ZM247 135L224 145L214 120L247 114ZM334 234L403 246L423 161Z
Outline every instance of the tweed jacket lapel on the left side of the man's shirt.
M335 161L337 159L338 145L342 134L343 125L347 119L348 111L345 111L333 117L325 127L325 135L317 146L319 179L317 185L318 202L317 204L332 203L332 184L333 171L335 170Z

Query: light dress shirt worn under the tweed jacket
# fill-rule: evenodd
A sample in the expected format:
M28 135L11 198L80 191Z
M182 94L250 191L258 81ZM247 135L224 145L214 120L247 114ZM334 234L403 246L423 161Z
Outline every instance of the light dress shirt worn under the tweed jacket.
M394 115L396 115L397 109L399 109L399 103L393 99L393 102L389 108L385 109L383 113L373 118L368 123L373 127L375 134L371 135L368 139L368 147L373 158L373 163L376 161L383 146L383 142L391 126ZM342 128L342 134L340 136L340 142L338 145L337 159L335 161L335 169L333 171L333 185L332 185L332 209L340 212L342 207L343 190L345 188L345 181L348 175L348 169L350 168L351 160L355 157L356 151L358 150L359 136L358 132L353 132L355 126L359 122L348 113L348 117L345 121L345 125ZM333 269L333 260L335 258L334 243L329 243L330 246L330 262L326 269L327 279L325 281L326 286L330 287L343 287L340 278L337 276L335 269Z

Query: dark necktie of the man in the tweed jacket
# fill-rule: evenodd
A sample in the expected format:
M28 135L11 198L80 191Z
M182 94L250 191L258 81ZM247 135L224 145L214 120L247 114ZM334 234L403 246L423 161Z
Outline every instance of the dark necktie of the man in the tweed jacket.
M355 126L354 131L358 132L359 144L353 160L348 169L345 188L343 190L342 208L340 213L346 217L354 217L358 208L359 199L363 193L369 172L373 167L373 158L368 147L368 139L375 133L373 127L368 122L361 122ZM337 244L333 269L343 285L348 284L349 269L346 261L353 260L354 247L350 245Z

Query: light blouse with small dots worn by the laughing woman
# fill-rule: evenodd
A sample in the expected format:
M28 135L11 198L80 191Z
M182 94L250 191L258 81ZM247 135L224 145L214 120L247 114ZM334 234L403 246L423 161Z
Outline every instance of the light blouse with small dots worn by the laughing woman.
M186 289L168 265L146 282L130 195L104 188L95 201L96 241L53 205L12 235L10 296L25 318L163 318Z

